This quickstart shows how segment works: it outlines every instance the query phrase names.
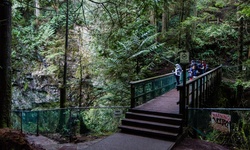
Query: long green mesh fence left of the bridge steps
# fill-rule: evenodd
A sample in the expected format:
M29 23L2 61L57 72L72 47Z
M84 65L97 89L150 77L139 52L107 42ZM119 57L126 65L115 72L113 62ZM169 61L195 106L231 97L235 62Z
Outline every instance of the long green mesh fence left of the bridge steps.
M12 111L12 128L31 134L59 133L66 137L115 132L129 107L65 108Z

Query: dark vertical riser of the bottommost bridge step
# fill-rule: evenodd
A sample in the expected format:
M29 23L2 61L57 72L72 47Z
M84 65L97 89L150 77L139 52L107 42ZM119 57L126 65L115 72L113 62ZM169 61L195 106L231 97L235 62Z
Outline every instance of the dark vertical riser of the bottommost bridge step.
M122 132L150 137L150 138L157 138L167 141L175 141L177 139L177 136L168 135L168 134L158 134L154 132L146 132L146 131L138 131L138 130L130 130L130 129L124 129L122 128Z

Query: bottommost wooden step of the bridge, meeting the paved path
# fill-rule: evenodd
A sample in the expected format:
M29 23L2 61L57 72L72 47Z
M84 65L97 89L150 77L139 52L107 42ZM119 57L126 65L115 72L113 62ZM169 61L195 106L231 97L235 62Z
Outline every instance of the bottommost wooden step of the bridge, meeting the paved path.
M163 139L168 141L175 141L178 137L178 133L171 133L171 132L139 128L139 127L131 127L126 125L119 126L119 129L121 129L121 132L125 133L147 136L151 138Z

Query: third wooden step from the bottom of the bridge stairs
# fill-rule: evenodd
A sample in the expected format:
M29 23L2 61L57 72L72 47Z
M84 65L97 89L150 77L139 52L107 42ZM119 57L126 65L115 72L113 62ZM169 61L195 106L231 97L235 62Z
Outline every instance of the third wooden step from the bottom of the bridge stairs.
M174 125L181 125L182 124L182 119L180 119L180 118L158 116L158 115L152 115L152 114L127 112L125 117L127 119L137 119L137 120L167 123L167 124L174 124Z

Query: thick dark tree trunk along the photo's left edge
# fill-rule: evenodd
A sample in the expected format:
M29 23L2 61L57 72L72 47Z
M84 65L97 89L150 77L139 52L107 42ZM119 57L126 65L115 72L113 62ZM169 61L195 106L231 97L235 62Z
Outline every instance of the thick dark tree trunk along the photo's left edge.
M0 128L10 127L11 3L0 0Z

